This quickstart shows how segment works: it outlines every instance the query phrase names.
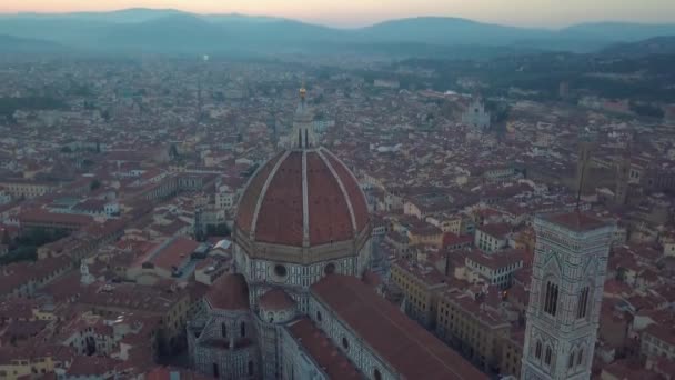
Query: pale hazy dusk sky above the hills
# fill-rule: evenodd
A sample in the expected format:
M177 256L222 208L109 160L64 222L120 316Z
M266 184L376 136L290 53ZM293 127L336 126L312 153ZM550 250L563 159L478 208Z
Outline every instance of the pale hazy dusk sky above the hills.
M552 28L604 20L675 22L675 0L0 0L0 12L132 7L278 16L340 27L414 16L452 16Z

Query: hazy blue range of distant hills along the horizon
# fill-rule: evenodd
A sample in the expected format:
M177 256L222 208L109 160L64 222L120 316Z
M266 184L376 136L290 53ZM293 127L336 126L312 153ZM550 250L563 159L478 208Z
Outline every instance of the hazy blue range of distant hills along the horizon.
M465 58L533 50L587 52L619 42L675 36L675 26L590 23L554 31L423 17L339 29L271 17L133 8L113 12L0 14L0 34L104 51L261 54L372 51L387 57ZM455 47L462 48L453 51Z

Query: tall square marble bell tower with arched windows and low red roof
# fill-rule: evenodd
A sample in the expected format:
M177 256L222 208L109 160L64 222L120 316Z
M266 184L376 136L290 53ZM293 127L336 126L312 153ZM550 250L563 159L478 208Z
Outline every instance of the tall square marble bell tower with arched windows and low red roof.
M590 379L615 226L575 211L535 218L524 380Z

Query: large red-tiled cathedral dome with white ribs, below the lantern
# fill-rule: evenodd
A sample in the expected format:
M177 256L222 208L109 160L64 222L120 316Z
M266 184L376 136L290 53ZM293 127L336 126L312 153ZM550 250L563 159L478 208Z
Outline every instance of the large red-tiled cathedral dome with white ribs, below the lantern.
M352 172L325 148L286 150L249 181L235 218L252 242L314 247L355 239L369 226Z

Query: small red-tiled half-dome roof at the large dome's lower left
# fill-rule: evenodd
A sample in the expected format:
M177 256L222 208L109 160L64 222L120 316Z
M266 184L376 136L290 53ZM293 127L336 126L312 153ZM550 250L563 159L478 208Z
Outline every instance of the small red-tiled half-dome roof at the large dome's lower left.
M240 273L219 277L209 289L206 300L213 309L249 310L246 279Z

